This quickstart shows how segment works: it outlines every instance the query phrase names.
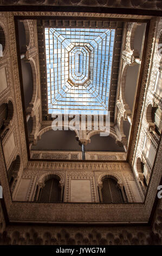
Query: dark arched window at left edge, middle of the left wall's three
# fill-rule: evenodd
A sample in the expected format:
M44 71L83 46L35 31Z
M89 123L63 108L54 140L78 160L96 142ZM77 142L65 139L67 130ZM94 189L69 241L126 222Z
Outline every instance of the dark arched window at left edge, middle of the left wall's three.
M0 106L0 136L3 140L9 131L9 124L14 115L14 107L11 101Z

